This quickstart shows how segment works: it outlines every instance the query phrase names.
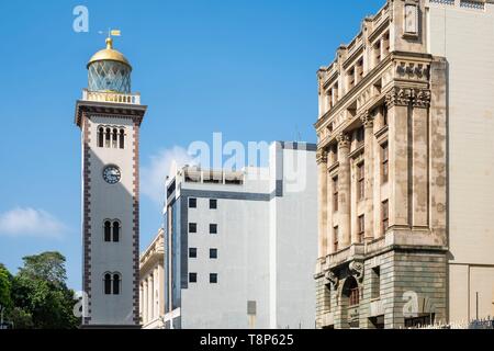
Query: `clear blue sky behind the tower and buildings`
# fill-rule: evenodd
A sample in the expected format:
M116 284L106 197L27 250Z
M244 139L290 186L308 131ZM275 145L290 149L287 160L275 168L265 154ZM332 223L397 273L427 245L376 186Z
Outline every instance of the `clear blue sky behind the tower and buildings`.
M0 262L58 250L80 288L80 134L75 102L86 63L122 30L115 48L134 67L142 126L144 248L160 226L169 158L194 140L315 141L316 70L384 0L0 2ZM89 9L89 33L72 9ZM146 182L146 184L143 184Z

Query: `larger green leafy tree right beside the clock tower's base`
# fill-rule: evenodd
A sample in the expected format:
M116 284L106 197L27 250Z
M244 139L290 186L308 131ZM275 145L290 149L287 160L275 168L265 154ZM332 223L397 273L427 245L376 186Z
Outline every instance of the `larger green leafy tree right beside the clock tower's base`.
M44 252L23 258L24 267L12 281L15 327L71 329L80 325L74 316L74 291L66 285L65 257Z

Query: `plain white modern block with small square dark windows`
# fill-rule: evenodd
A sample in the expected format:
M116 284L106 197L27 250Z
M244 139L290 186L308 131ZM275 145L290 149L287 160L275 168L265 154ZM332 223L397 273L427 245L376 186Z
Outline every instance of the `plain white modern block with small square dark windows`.
M314 328L315 145L274 143L268 168L172 174L166 328Z

